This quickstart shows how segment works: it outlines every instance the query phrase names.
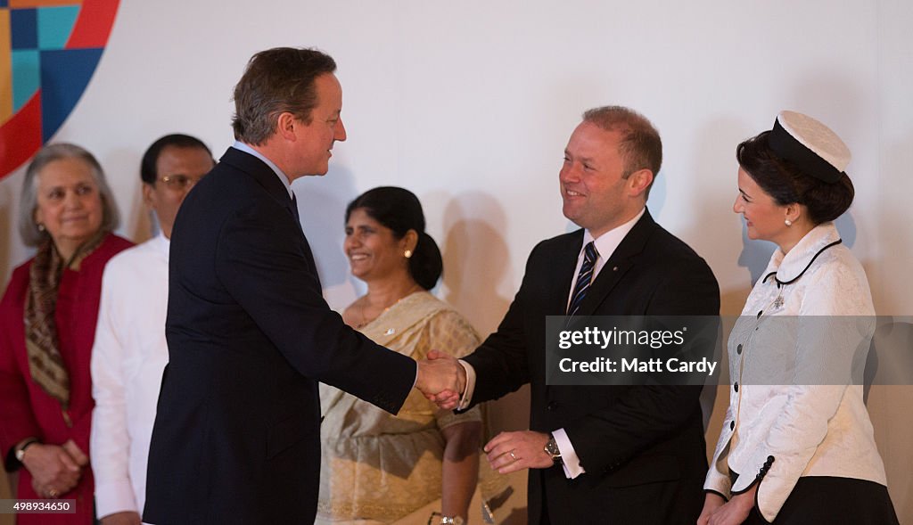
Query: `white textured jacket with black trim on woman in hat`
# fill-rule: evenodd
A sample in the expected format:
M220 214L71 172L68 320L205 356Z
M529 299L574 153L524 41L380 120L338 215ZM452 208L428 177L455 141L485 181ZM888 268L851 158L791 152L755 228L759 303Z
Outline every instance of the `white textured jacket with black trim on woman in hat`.
M824 223L788 254L778 249L764 271L776 278L759 279L729 335L733 385L704 488L729 498L759 482L765 520L803 476L887 482L863 387L849 381L854 360L865 360L875 309L850 250L822 251L839 238Z

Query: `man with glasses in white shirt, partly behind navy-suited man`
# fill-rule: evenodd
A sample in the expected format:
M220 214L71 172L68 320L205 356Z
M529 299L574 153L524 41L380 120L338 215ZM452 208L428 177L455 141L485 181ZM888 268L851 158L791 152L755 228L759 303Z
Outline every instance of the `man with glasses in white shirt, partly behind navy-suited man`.
M96 405L89 440L102 525L141 523L155 404L168 362L169 238L184 197L214 165L212 152L194 137L172 134L153 142L140 174L159 234L105 268L92 348Z

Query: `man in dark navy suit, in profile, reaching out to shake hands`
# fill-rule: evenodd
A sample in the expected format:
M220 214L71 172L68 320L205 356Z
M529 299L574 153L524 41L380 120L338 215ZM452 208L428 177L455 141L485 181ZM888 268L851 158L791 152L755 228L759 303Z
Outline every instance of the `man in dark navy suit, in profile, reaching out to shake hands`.
M396 413L444 363L391 352L321 297L290 184L344 141L332 58L257 53L235 89L237 142L173 226L165 369L152 430L151 523L310 523L320 472L317 382Z

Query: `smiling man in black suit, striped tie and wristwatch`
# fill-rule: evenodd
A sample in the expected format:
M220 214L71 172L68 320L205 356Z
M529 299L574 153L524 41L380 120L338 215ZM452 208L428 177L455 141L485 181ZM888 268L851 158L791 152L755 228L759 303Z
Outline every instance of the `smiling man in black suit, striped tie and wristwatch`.
M646 211L661 161L659 134L640 114L584 113L559 175L564 216L582 229L533 248L498 331L464 358L460 408L531 385L530 430L502 433L485 449L502 474L530 469L534 525L690 525L700 513L699 386L546 384L546 316L719 314L707 263ZM456 396L439 402L450 407Z

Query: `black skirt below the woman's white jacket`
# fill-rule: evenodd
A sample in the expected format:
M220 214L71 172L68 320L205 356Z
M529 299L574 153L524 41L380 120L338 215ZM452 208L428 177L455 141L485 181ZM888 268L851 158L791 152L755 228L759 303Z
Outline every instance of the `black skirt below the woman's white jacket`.
M763 481L761 481L763 483ZM758 509L751 509L743 525L766 525ZM887 487L854 478L809 476L799 478L790 497L772 521L774 525L898 525Z

